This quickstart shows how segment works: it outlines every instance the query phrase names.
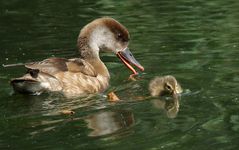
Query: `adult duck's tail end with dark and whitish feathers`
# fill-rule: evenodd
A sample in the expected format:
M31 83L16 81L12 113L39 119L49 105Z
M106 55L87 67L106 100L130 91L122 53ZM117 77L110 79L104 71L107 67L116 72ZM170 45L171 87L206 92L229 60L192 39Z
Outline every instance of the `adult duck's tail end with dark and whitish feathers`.
M40 95L45 91L60 91L61 83L53 76L41 72L29 72L10 81L15 92Z

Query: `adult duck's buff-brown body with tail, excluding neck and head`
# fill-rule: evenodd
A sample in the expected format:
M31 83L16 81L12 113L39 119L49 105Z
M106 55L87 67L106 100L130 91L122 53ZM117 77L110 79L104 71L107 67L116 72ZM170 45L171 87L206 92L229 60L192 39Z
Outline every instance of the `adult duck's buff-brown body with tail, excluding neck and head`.
M33 95L61 91L74 97L103 92L109 84L109 72L102 62L91 63L80 58L49 58L26 64L28 73L11 84L15 91Z

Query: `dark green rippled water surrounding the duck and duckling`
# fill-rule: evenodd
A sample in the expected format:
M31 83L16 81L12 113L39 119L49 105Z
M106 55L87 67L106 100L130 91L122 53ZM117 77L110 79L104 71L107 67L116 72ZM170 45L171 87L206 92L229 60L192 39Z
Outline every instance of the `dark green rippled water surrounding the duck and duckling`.
M122 99L115 104L102 95L14 95L9 80L25 69L0 67L0 148L238 149L238 7L237 0L1 1L0 64L76 57L81 27L111 16L129 29L145 74L129 82L117 57L102 54L111 73L106 93ZM148 95L151 78L167 74L184 88L175 118L159 100L136 100Z

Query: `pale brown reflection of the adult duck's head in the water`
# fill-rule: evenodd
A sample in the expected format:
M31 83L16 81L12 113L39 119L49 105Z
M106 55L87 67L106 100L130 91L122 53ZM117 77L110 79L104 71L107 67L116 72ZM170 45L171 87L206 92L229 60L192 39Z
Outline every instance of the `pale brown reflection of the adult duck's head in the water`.
M92 129L89 136L103 136L127 129L135 124L134 115L127 110L101 111L85 118L88 128Z

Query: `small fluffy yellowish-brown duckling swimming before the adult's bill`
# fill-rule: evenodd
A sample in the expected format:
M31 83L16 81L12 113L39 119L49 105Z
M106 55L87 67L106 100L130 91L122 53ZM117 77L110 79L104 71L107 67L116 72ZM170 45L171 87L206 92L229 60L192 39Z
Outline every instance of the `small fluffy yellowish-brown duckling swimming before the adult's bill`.
M151 96L162 96L164 94L176 95L182 93L182 88L175 77L171 75L155 77L149 83Z

